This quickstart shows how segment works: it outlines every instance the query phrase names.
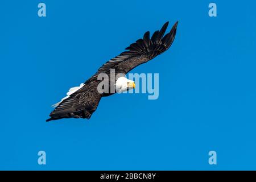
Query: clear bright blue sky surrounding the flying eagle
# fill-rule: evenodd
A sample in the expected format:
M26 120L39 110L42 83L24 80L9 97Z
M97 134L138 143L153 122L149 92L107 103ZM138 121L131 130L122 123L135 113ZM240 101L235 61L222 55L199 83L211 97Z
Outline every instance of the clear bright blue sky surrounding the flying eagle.
M256 3L213 1L211 18L210 2L1 1L0 169L256 169ZM89 121L45 122L69 88L176 20L172 47L132 71L159 73L158 100L115 94Z

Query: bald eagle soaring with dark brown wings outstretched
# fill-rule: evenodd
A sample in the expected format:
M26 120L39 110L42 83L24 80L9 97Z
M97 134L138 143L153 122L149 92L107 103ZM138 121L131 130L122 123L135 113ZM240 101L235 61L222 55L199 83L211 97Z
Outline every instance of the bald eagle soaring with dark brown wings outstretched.
M124 92L135 88L135 83L128 80L125 75L133 68L140 64L160 55L170 48L176 35L177 22L171 28L171 31L164 35L169 22L164 23L160 31L155 31L150 38L150 32L146 32L142 39L138 39L135 43L126 48L127 51L102 65L98 71L90 77L84 84L69 89L67 96L60 102L53 105L55 109L49 114L51 118L46 121L61 118L87 118L89 119L101 100L101 97L110 96L117 92ZM110 77L111 70L114 69L114 79ZM114 85L114 93L98 92L98 75L107 74L109 84ZM118 76L120 75L121 76ZM110 86L111 88L111 86Z

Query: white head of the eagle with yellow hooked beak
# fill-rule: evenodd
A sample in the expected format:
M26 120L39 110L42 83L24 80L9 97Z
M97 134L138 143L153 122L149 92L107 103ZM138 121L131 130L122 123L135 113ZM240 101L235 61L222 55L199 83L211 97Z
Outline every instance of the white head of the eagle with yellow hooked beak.
M115 91L117 93L125 92L130 89L135 88L135 82L133 80L128 80L126 77L119 77L115 81Z

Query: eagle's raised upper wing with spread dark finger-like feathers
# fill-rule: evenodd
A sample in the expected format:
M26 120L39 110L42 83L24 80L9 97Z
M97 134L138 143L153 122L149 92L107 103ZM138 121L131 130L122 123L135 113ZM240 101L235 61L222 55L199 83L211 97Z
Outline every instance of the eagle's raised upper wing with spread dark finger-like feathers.
M164 35L168 23L169 22L164 23L161 30L155 31L151 38L150 32L147 31L143 39L138 39L135 43L126 48L127 51L122 52L120 55L102 65L86 82L96 80L100 73L108 73L110 69L115 69L115 73L126 74L131 71L131 69L140 64L147 63L147 61L166 51L171 47L172 42L174 42L178 22L174 24L170 32Z

